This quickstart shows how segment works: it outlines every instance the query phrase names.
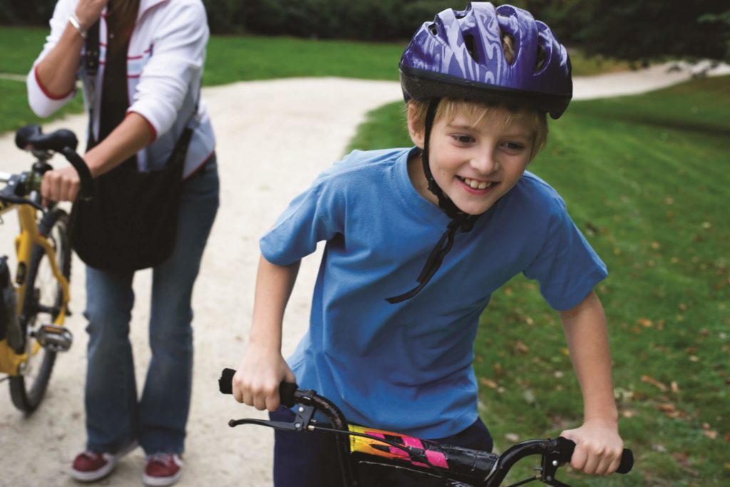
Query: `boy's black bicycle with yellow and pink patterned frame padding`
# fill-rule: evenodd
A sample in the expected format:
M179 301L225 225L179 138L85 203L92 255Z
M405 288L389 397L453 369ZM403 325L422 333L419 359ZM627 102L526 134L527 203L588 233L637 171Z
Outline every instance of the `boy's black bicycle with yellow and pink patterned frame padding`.
M218 386L223 394L231 394L231 380L235 371L224 369ZM399 433L384 432L364 426L348 424L345 415L335 404L315 391L303 391L296 384L282 383L281 402L296 407L293 423L258 419L231 420L228 426L258 424L290 432L331 432L337 435L342 486L368 485L364 478L378 469L410 470L420 475L421 486L442 487L499 487L512 466L526 456L542 457L537 474L510 487L539 480L549 486L569 487L555 478L558 467L569 462L575 443L558 437L557 440L529 440L512 446L502 455L442 445L419 440ZM315 413L322 413L329 425L320 426ZM628 473L634 465L631 450L623 450L617 472Z

